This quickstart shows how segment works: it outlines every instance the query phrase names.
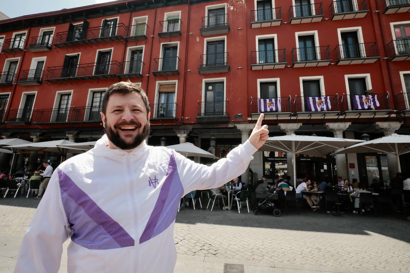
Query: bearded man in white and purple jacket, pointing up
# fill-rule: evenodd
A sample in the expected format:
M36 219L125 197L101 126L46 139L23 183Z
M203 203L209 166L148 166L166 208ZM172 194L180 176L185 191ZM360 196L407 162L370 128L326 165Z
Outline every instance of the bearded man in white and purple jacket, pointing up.
M57 272L68 237L68 272L173 272L182 196L244 173L269 137L260 115L249 139L211 167L148 146L150 105L131 82L108 88L96 146L57 167L21 244L14 272Z

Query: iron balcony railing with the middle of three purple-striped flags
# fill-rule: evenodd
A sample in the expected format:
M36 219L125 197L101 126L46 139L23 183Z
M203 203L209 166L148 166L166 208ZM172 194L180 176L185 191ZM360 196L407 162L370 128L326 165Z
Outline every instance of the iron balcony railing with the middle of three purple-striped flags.
M321 99L317 99L321 98ZM322 100L323 98L323 100ZM329 108L330 104L330 108ZM294 110L298 112L321 112L321 111L340 111L339 96L296 96L294 98Z

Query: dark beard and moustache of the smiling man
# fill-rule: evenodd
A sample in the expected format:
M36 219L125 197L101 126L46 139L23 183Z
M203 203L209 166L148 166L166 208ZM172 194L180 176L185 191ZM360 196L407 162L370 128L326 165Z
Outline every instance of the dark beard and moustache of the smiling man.
M111 126L109 126L107 124L107 122L105 122L105 128L104 131L107 134L108 139L112 142L112 144L114 144L116 147L118 147L121 150L132 150L137 148L139 145L141 145L141 143L145 140L145 138L149 135L150 133L150 124L149 121L147 120L147 124L144 125L144 128L142 129L141 133L137 133L137 135L135 135L134 139L132 140L132 142L128 143L125 142L124 140L122 140L120 134L118 133L119 126L126 126L126 125L134 125L137 127L137 130L139 128L141 128L141 123L137 122L137 121L131 121L131 122L121 122L118 123L114 126L114 128L116 129L116 131L114 131Z

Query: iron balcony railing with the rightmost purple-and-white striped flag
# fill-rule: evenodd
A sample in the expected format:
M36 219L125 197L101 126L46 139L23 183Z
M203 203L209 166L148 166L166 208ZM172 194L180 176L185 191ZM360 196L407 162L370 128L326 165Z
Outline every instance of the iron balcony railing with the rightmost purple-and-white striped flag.
M374 97L376 95L376 97ZM369 110L389 110L389 93L371 95L346 95L340 96L340 111L369 111ZM368 97L362 97L368 96ZM371 96L371 97L370 97ZM376 102L377 100L377 102ZM366 104L366 105L364 105ZM377 104L379 106L377 106Z

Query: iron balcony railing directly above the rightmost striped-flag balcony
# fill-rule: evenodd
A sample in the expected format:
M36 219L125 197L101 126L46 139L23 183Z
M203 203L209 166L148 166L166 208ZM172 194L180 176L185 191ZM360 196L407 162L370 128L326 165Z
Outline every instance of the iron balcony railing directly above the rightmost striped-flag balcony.
M335 47L335 52L336 60L380 56L377 42L337 45Z

